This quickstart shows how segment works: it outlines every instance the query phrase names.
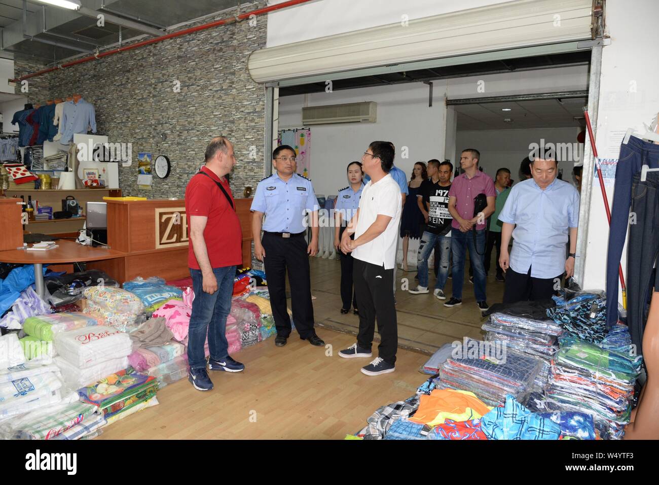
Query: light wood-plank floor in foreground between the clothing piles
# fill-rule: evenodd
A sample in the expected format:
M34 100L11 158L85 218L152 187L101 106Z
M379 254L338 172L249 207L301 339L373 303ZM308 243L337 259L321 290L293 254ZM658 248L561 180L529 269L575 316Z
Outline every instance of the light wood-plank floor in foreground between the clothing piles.
M108 426L99 439L343 439L427 378L418 372L427 357L408 350L399 350L395 372L364 375L359 369L370 359L337 355L353 336L317 333L331 348L295 333L285 347L270 338L234 355L244 372L211 372L212 391L196 391L187 379L169 384L158 391L158 406Z

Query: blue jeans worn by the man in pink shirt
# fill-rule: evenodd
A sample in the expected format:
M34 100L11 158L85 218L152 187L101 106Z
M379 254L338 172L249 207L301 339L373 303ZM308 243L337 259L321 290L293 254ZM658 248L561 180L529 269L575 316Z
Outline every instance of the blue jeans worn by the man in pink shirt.
M476 245L474 245L473 230L462 232L451 229L451 250L453 252L453 298L462 300L462 286L465 283L465 254L469 247L469 258L474 270L474 294L476 302L484 302L485 298L485 267L483 254L485 253L485 230L476 231ZM480 254L479 254L480 253Z

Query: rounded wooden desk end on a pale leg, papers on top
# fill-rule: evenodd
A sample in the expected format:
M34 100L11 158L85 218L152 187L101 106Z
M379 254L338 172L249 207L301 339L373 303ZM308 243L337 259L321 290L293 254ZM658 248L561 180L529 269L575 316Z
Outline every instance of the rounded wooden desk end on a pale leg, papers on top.
M76 261L101 261L106 259L121 259L125 253L116 249L83 246L74 241L57 240L59 247L49 251L25 251L13 249L0 251L0 261L3 263L19 263L34 265L34 282L37 294L43 298L43 265L51 263L74 263Z

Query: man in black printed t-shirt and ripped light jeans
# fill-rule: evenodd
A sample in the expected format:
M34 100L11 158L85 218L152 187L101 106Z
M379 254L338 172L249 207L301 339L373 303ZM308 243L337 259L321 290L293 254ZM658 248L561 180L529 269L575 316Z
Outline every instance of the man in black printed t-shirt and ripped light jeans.
M421 236L417 253L418 286L409 290L412 294L428 293L428 258L436 243L439 254L435 252L435 259L439 258L440 271L435 280L434 295L440 300L446 300L444 285L449 275L449 258L451 256L451 222L453 217L449 213L449 189L451 188L451 174L453 164L430 160L428 162L428 180L421 183L417 199L418 207L426 219L426 228ZM437 263L435 263L437 264Z

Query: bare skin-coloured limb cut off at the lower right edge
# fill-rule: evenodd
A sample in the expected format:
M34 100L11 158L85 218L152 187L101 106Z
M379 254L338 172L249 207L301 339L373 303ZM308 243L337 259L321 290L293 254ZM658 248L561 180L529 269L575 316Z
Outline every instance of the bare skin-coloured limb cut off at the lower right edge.
M659 292L652 294L650 302L643 335L643 360L648 379L624 439L659 439Z

